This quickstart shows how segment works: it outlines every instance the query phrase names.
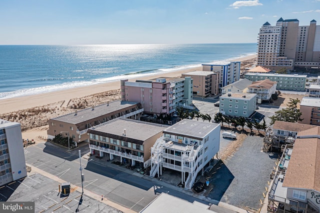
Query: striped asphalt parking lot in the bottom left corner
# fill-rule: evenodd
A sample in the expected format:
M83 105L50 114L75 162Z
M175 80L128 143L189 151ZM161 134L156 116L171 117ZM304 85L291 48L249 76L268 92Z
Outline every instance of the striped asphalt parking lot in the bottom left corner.
M32 172L32 171L31 171ZM33 200L35 212L119 212L119 210L71 188L67 196L59 193L60 183L39 173L3 185L0 201Z

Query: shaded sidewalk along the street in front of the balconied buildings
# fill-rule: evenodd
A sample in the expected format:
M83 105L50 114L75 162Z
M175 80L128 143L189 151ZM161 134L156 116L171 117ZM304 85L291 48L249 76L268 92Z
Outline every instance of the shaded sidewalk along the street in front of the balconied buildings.
M86 160L89 158L89 156L87 156L87 154L84 154L82 157L84 157L84 159L86 159ZM96 158L96 157L92 157L92 159L93 159L92 162L95 162L95 163L98 163L98 164L101 164L101 165L104 165L104 166L110 166L112 168L115 168L115 169L121 170L123 172L129 173L131 175L134 175L134 176L146 179L148 181L154 182L155 185L157 185L157 184L158 185L163 185L163 186L165 186L167 188L170 188L172 190L176 190L176 191L185 193L187 195L196 197L196 198L201 199L203 201L207 201L207 202L209 202L211 204L214 204L214 205L229 209L229 210L231 210L233 212L239 212L239 213L248 213L248 212L250 212L250 211L244 210L242 208L239 208L239 207L236 207L236 206L224 203L224 202L220 202L218 200L210 199L209 197L206 197L206 196L204 196L202 194L198 194L196 192L193 192L192 190L185 189L183 187L178 187L178 186L169 184L169 183L164 182L164 181L160 181L160 180L158 180L158 179L156 179L154 177L150 177L148 175L141 174L140 172L136 172L135 170L130 170L130 169L125 168L123 166L116 165L116 164L112 163L111 161L104 160L103 158L99 159L99 158ZM112 206L112 207L114 207L114 206ZM214 210L214 206L211 205L210 209Z

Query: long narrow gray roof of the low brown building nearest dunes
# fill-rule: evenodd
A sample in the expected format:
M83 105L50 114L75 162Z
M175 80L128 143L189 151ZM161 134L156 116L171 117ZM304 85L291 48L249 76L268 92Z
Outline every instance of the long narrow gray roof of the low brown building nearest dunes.
M132 107L136 104L137 102L114 100L109 102L109 105L107 105L107 103L103 103L103 104L94 106L93 110L92 110L92 107L81 109L81 110L78 109L76 115L74 112L72 112L72 113L64 114L51 119L72 123L72 124L78 124L78 123L91 120L108 113L115 112L117 110L124 109L126 107Z

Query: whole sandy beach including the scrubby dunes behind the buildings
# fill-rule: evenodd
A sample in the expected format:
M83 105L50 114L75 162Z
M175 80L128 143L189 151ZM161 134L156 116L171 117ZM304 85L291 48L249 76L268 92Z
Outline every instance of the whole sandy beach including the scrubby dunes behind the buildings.
M256 54L236 58L232 61L242 61L243 65L245 65L253 63L255 58ZM151 79L163 76L180 77L182 73L193 70L202 70L202 67L153 74L139 77L138 79ZM135 79L137 78L130 78L129 81L134 81ZM31 138L34 135L39 136L38 139L43 139L46 137L47 121L50 117L72 112L74 108L89 107L115 99L120 99L119 80L54 92L1 99L0 118L20 122L21 128L24 131L22 137L23 134L26 135L24 138Z

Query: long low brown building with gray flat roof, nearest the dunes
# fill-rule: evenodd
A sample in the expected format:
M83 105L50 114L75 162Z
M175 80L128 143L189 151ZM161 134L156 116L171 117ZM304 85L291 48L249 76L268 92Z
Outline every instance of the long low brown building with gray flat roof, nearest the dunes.
M143 108L138 102L114 100L49 119L48 139L62 134L75 143L88 142L87 129L116 117L139 119Z

